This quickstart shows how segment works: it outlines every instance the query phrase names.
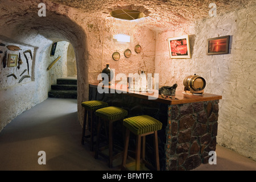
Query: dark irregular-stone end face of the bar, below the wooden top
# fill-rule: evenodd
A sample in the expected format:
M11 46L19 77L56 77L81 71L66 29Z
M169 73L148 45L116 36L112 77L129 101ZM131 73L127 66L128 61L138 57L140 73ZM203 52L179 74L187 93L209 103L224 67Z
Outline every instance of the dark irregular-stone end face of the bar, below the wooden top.
M216 150L218 100L169 105L166 170L191 170Z

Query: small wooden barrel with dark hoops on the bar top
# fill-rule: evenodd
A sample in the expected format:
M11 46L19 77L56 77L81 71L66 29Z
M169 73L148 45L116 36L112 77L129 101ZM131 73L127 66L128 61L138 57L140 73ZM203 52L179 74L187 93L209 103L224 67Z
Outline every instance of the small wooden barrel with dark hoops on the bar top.
M183 80L183 85L187 90L201 91L205 88L206 82L203 77L198 75L189 75Z

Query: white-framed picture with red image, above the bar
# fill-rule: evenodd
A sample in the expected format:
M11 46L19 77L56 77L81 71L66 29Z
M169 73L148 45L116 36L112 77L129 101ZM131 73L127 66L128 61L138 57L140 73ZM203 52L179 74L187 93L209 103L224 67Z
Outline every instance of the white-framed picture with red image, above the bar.
M191 58L188 35L168 38L168 45L171 58Z

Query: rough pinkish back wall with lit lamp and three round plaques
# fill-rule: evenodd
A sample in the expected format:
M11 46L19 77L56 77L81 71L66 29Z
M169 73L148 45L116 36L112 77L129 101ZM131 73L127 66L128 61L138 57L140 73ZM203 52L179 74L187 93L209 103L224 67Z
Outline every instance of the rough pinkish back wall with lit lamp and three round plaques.
M154 73L155 67L155 32L148 28L139 28L137 22L127 20L110 19L105 22L87 23L86 29L92 39L89 40L93 45L89 53L89 82L98 82L97 76L106 63L110 68L118 73L138 73L139 69L144 69L146 73ZM113 39L115 34L130 35L130 43L117 42ZM141 53L136 53L134 47L139 44L142 47ZM131 50L131 57L127 58L123 52ZM113 60L112 54L119 52L120 59Z

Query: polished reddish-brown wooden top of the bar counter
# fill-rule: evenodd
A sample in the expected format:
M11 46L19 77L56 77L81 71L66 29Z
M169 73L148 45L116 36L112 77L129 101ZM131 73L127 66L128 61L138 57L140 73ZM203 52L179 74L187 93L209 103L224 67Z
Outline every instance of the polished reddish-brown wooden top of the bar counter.
M98 88L98 83L89 84L92 88ZM101 86L101 85L100 85ZM151 100L155 102L161 102L167 105L176 105L176 104L187 104L192 102L201 102L201 101L214 101L214 100L221 100L222 96L218 96L215 94L204 93L203 95L197 96L192 94L186 94L182 91L176 91L175 99L171 98L163 98L161 95L157 94L154 96L154 93L149 92L135 92L127 88L119 88L117 84L115 85L104 85L104 88L108 88L108 93L122 93L122 94L129 94L129 96L143 98L145 100ZM102 88L103 89L103 88ZM158 90L155 90L155 93L158 93Z

